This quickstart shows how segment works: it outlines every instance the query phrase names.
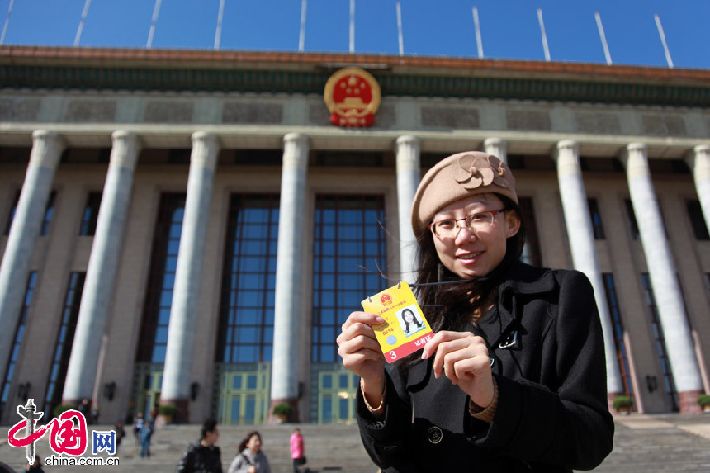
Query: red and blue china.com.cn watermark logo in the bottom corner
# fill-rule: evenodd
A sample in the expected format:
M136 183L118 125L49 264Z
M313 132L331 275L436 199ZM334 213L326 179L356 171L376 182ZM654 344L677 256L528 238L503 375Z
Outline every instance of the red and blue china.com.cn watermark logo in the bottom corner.
M7 442L11 447L24 448L25 458L28 463L35 461L35 444L48 434L49 448L59 457L54 459L71 459L81 457L86 452L89 434L86 427L84 414L69 409L46 424L39 426L37 422L44 416L38 412L34 399L28 399L25 405L17 406L17 414L22 420L10 427L7 432ZM97 455L106 452L116 455L116 432L113 430L92 430L91 454ZM50 464L48 458L46 464ZM118 460L118 459L116 459ZM118 464L118 462L115 462ZM62 463L64 464L64 463ZM96 464L87 462L70 462L69 464ZM113 464L108 462L107 464Z

